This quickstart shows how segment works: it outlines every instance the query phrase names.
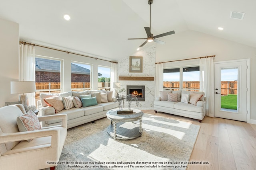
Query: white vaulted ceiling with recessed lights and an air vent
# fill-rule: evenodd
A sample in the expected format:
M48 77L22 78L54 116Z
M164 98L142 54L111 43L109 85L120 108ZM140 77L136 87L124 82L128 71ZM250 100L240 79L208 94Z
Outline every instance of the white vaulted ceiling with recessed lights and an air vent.
M127 38L146 38L149 27L148 0L1 1L0 18L19 23L22 40L112 61L136 52L144 40ZM256 0L153 0L151 32L194 30L256 47L255 7Z

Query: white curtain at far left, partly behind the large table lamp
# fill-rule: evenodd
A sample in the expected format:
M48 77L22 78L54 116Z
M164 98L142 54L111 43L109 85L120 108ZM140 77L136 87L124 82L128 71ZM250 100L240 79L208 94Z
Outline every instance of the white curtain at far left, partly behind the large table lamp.
M35 81L35 55L36 47L33 45L20 45L19 81ZM28 105L35 106L35 93L28 93Z

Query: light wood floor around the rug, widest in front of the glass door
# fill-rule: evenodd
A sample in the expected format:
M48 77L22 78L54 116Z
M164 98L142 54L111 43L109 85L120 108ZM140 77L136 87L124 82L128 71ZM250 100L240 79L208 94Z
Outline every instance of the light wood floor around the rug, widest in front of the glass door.
M199 123L168 113L143 111L201 126L190 161L209 164L189 164L187 170L256 170L256 125L207 116Z

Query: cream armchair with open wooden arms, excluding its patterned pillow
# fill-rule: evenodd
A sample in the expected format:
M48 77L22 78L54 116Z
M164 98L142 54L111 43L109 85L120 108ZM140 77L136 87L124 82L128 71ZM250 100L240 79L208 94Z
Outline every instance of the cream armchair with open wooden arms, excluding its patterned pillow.
M61 119L62 124L19 132L16 118L26 113L21 104L0 108L0 165L3 169L54 170L67 135L67 115L39 116L39 121ZM33 139L31 142L26 140Z

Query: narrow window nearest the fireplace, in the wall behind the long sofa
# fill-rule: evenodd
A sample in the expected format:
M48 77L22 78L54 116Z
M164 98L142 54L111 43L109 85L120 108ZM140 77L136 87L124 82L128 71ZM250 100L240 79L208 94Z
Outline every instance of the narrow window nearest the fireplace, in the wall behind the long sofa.
M98 90L110 90L110 67L98 66Z

